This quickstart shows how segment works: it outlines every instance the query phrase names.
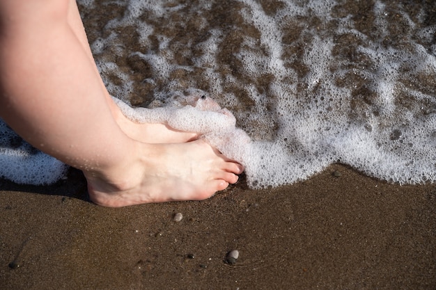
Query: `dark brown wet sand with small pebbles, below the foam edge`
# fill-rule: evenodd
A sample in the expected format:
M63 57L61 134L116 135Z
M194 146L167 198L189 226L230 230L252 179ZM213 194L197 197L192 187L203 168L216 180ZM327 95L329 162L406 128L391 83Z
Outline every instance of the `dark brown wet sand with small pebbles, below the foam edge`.
M0 190L0 289L436 289L434 185L334 165L281 188L242 180L203 202L122 209L88 202L75 170Z

